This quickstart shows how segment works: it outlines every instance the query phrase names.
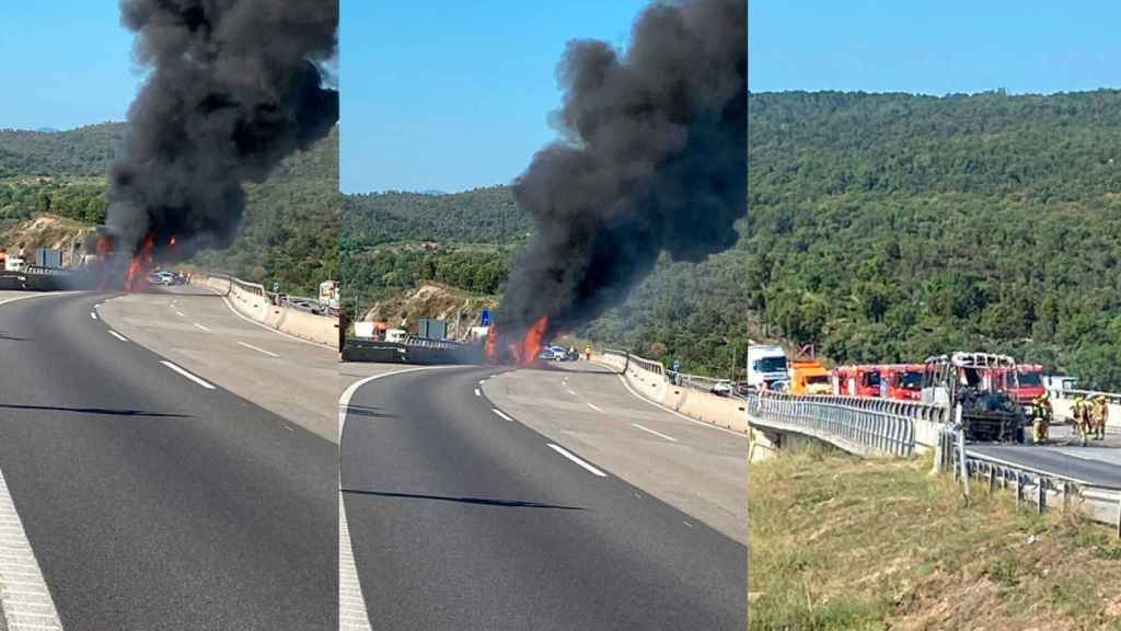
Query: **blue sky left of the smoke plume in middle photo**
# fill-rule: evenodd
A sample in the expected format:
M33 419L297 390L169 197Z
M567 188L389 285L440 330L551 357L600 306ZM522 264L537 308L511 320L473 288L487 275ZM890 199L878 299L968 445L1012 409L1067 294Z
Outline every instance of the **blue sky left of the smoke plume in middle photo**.
M344 192L507 184L555 137L565 43L622 47L646 0L343 0Z

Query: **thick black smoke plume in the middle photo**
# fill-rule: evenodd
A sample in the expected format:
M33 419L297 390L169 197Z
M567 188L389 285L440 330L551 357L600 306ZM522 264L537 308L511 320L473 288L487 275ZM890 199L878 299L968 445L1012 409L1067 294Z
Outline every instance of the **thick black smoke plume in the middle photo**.
M543 316L549 332L586 323L663 252L731 247L747 212L745 0L655 2L622 56L572 42L557 77L562 139L513 185L536 234L495 319L506 340Z

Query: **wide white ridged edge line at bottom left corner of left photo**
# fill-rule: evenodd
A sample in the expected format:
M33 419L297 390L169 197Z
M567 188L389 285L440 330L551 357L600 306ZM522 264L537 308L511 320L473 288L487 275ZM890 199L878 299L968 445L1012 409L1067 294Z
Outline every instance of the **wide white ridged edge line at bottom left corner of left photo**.
M3 474L0 474L0 612L8 631L62 631L63 628Z

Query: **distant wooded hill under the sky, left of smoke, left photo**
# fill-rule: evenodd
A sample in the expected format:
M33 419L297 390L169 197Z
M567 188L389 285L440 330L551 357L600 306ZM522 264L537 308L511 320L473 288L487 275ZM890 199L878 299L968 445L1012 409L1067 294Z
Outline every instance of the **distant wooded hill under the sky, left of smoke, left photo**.
M104 176L123 132L123 122L70 131L0 129L0 179Z

